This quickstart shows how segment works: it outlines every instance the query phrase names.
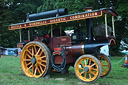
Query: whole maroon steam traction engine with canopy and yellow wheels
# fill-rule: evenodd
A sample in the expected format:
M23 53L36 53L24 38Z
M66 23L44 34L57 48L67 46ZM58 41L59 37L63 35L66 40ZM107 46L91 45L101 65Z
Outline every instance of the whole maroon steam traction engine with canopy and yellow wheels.
M87 83L108 75L111 71L111 61L104 54L100 54L100 47L115 44L114 16L117 17L117 13L112 9L92 10L89 7L82 13L64 14L67 14L65 8L30 14L26 22L9 26L9 30L20 30L20 43L17 47L22 48L21 66L24 73L29 77L39 78L46 76L51 69L63 72L69 66L74 66L78 79ZM108 14L112 16L111 33L107 26ZM104 35L94 36L92 18L102 16L105 17L104 28L97 28L104 29ZM70 36L63 31L65 24L66 26L77 25ZM30 31L33 28L31 27L37 26L46 28L49 26L50 33L45 37L36 37L32 40L30 36L33 34ZM81 26L86 26L87 36L81 30ZM27 30L28 36L25 37L28 40L22 40L23 30Z

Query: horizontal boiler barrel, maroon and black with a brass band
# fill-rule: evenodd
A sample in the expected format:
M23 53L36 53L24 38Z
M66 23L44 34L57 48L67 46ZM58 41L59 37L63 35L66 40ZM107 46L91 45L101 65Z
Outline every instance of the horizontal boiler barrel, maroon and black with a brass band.
M93 54L95 52L99 52L100 47L104 45L109 45L109 43L93 43L93 44L86 44L83 45L73 45L67 46L65 49L70 51L72 56L79 57L84 54Z

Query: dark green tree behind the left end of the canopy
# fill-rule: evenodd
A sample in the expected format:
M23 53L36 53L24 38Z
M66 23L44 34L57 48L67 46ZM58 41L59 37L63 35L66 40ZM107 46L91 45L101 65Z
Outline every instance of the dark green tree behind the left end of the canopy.
M9 31L10 24L23 22L27 13L36 12L43 0L0 0L0 46L16 47L19 31Z

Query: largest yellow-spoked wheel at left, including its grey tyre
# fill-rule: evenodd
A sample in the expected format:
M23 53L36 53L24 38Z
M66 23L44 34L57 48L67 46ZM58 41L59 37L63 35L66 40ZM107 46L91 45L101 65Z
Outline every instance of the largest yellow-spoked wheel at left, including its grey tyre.
M21 67L28 77L45 76L51 68L50 51L38 41L27 43L21 54Z

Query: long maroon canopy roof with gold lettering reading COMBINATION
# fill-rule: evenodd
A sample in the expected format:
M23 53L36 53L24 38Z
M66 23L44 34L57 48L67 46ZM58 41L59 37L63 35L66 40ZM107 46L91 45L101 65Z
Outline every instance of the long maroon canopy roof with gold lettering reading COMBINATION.
M75 13L75 14L64 15L59 17L45 18L45 19L39 19L35 21L27 21L24 23L12 24L9 26L9 30L30 28L30 27L36 27L36 26L42 26L42 25L49 25L49 24L69 22L69 21L75 21L75 20L81 20L81 19L87 19L87 18L100 17L102 16L103 13L111 14L112 16L116 16L116 17L118 16L116 11L112 9L102 8L99 10L93 10L93 11Z

